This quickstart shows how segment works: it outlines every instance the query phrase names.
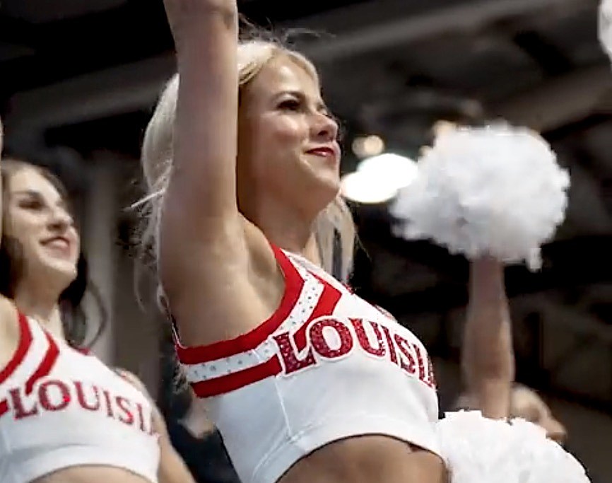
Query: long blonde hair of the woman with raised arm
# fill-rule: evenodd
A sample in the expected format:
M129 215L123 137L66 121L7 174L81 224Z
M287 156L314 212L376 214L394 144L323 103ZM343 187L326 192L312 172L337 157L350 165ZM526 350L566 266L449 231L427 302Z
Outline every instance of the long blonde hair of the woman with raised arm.
M302 54L289 50L277 42L249 40L238 45L239 92L259 74L272 59L285 55L318 80L317 70ZM148 123L143 139L141 163L148 194L138 203L143 206L146 226L141 235L141 245L148 257L157 253L158 223L163 194L172 170L172 141L177 105L179 76L175 74L166 84ZM314 233L319 246L323 268L331 273L335 256L339 257L339 273L346 281L353 268L355 249L355 225L351 211L339 195L317 217ZM336 237L338 240L336 240ZM334 254L334 248L340 253Z

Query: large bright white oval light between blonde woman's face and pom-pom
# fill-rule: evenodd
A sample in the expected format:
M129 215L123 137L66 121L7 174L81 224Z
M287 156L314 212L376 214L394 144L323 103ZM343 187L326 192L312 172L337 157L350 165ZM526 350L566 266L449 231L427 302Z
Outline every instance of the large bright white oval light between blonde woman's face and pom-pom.
M355 173L343 176L344 197L363 204L384 203L416 177L417 165L410 158L384 153L359 163Z

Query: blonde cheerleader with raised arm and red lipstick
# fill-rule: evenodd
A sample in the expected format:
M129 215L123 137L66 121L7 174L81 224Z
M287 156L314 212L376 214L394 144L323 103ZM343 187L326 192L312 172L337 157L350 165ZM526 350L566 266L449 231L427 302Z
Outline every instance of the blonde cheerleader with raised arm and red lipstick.
M478 481L461 479L438 424L423 344L329 274L329 235L344 277L354 226L314 66L240 42L235 0L165 8L179 72L143 141L143 243L187 380L241 481Z

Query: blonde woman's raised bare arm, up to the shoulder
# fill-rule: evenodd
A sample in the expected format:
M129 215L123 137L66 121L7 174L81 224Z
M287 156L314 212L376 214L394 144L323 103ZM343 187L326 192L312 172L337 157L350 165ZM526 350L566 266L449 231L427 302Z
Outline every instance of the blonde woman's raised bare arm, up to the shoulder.
M235 179L238 28L235 0L165 0L165 8L180 81L159 255L174 310L175 288L182 298L185 286L215 277L206 264L240 259L244 243Z

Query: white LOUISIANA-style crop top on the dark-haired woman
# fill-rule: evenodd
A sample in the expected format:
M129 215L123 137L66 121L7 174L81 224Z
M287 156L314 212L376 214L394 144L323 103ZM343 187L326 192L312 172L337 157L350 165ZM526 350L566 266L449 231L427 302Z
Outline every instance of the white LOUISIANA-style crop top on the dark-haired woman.
M146 396L35 320L20 315L19 328L18 347L0 371L0 482L102 465L156 483L158 436Z

